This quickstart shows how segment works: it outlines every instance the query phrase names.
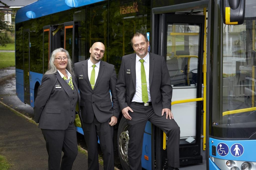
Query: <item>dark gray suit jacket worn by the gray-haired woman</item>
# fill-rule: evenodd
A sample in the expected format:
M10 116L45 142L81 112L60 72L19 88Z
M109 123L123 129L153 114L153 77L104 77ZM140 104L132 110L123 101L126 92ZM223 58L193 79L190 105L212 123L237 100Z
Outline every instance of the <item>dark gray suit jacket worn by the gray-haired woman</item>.
M70 119L74 122L76 103L73 103L74 97L72 96L76 94L72 93L77 91L78 103L80 95L73 79L73 86L76 90L65 88L67 82L61 78L58 71L54 74L45 74L42 77L34 106L35 121L39 123L39 128L65 130L68 128Z

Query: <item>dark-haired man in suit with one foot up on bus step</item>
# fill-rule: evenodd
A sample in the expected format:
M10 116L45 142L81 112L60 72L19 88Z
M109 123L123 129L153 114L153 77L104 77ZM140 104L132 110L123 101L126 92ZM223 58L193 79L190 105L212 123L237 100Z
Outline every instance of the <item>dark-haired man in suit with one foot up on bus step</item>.
M168 169L178 169L180 129L171 112L172 86L165 59L148 52L149 42L142 33L134 34L131 44L135 53L123 56L116 84L120 109L128 124L130 169L142 169L147 121L168 136Z

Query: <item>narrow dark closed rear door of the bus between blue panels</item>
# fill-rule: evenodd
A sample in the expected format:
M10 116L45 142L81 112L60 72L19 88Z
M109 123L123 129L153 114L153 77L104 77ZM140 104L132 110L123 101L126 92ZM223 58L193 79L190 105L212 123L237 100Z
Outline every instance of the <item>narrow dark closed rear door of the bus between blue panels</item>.
M29 29L23 31L23 64L24 64L24 102L30 104L30 87L29 87Z

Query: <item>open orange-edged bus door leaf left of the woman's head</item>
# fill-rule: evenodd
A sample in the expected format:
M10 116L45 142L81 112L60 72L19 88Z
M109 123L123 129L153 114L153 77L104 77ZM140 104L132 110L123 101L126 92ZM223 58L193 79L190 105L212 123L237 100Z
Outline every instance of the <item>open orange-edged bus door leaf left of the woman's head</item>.
M45 73L48 69L48 63L50 60L50 54L51 54L51 27L50 25L46 25L43 27L44 33L43 33L43 73Z

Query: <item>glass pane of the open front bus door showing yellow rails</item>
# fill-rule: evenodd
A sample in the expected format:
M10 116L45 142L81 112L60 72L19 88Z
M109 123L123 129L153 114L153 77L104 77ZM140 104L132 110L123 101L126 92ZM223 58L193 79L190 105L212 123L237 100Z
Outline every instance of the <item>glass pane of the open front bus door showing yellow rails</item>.
M200 26L170 23L167 26L166 64L173 86L196 86Z

